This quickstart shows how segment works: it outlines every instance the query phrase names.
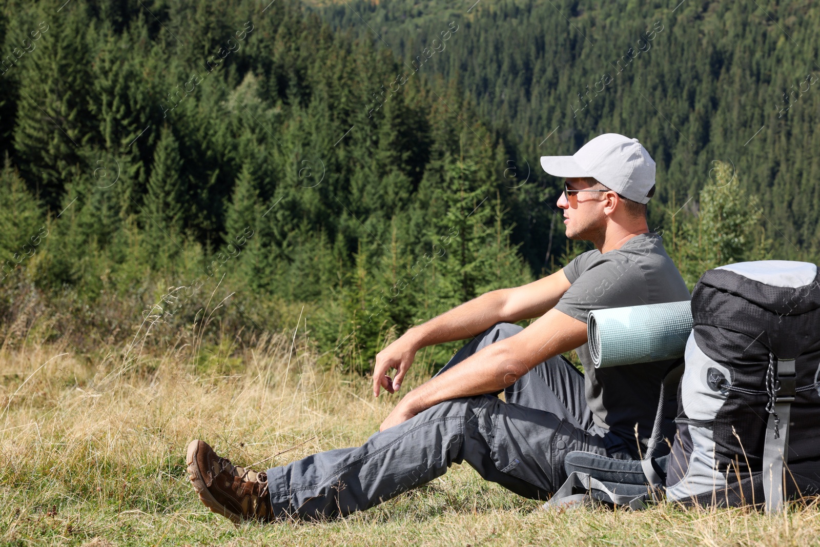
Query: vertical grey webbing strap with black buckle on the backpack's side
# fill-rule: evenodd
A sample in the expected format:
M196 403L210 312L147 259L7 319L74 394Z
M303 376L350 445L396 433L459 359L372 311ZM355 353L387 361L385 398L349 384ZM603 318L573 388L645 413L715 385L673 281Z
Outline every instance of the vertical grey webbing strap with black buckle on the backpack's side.
M774 355L770 354L766 375L766 390L769 395L766 410L769 417L763 442L763 495L766 498L767 514L783 510L786 494L783 471L789 460L789 420L791 403L795 400L795 379L795 359L778 358L775 372Z

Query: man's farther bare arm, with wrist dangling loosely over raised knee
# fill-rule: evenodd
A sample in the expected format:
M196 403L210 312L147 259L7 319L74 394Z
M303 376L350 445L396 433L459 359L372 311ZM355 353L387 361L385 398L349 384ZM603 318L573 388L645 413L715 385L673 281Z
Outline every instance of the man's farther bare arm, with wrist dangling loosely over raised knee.
M558 303L569 287L567 276L559 270L527 285L482 294L422 325L412 327L376 355L373 394L378 397L380 387L390 393L399 390L419 349L472 338L499 321L514 323L543 316ZM397 371L394 379L387 376L390 368Z

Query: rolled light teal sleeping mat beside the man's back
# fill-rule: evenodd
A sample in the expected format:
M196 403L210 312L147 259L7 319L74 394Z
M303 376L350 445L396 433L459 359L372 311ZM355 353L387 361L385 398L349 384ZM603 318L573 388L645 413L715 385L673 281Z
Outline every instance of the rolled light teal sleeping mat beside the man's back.
M586 321L595 368L683 357L692 331L689 300L590 312Z

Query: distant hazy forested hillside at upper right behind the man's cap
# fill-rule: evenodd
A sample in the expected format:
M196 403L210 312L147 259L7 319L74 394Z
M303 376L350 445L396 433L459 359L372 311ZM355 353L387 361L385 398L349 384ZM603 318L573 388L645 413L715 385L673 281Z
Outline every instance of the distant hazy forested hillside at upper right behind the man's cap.
M319 12L335 28L389 44L403 71L456 82L530 165L600 133L628 134L658 162L658 202L693 198L686 210L696 212L712 162L730 162L744 193L760 199L780 258L818 256L816 3L324 4ZM462 30L434 43L446 21ZM651 218L650 227L668 223L661 207Z

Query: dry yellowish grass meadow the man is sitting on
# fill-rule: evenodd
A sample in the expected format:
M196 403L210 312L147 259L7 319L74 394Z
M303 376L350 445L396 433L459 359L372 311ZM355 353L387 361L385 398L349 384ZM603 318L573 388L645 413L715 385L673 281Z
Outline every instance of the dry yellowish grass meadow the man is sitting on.
M38 344L4 349L0 545L820 543L816 507L772 519L670 505L544 513L462 466L345 519L235 527L207 512L187 482L189 440L265 467L359 444L394 404L374 400L367 379L322 372L299 345L272 335L239 357L198 350L196 360L190 346L125 360L122 350L83 358Z

